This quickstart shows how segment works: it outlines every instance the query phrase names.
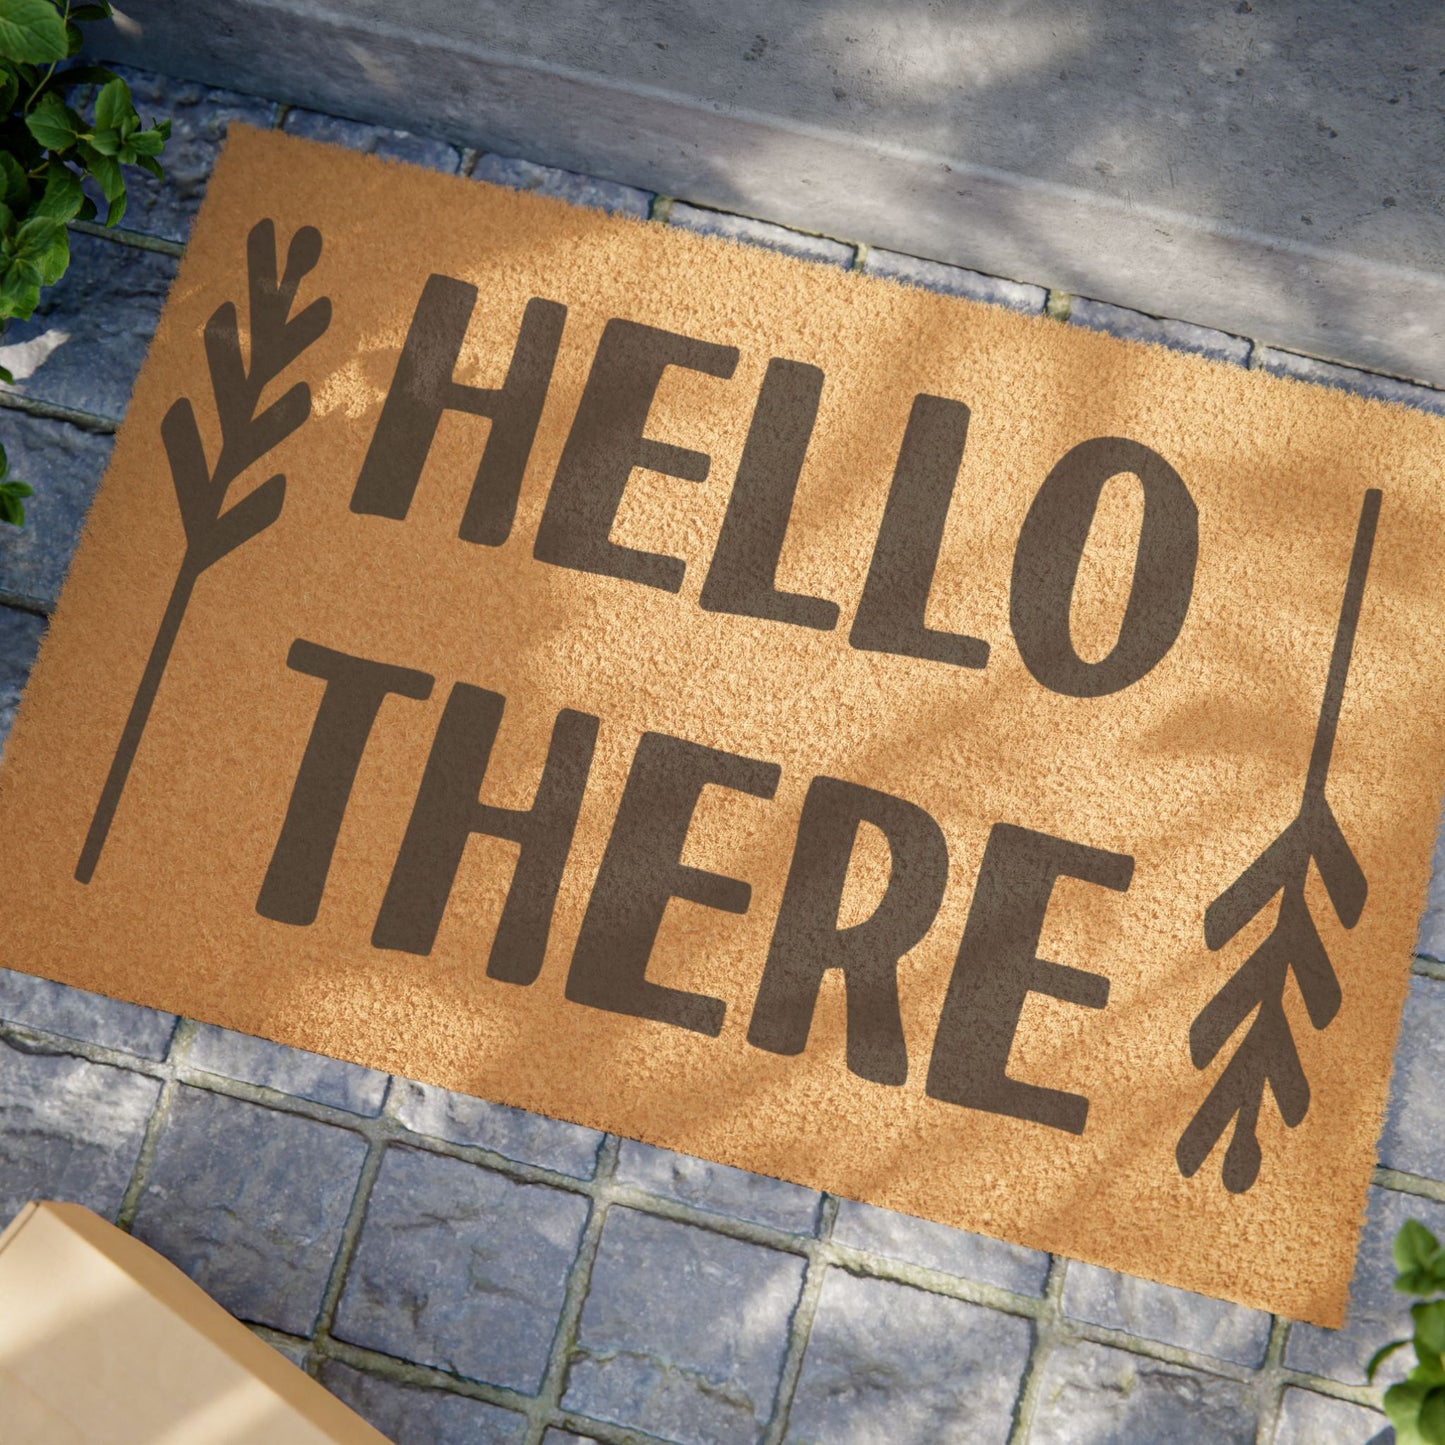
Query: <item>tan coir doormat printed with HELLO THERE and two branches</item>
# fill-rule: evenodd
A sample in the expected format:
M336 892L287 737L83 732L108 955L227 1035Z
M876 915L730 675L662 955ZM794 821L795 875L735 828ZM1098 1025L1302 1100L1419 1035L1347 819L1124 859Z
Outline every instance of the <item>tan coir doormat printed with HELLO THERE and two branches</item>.
M240 130L7 965L1338 1324L1441 423Z

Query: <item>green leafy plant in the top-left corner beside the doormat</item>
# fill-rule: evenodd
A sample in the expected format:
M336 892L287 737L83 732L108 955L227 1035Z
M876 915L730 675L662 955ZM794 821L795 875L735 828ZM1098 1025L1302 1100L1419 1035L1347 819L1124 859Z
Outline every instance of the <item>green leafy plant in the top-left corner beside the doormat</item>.
M26 319L71 263L66 224L100 215L84 194L90 176L105 201L105 225L126 214L123 166L162 178L158 159L171 121L143 127L130 87L97 65L72 65L81 25L110 16L110 0L0 0L0 328ZM66 104L78 85L98 85L94 118ZM0 367L0 380L14 377ZM0 522L25 522L30 488L0 470Z

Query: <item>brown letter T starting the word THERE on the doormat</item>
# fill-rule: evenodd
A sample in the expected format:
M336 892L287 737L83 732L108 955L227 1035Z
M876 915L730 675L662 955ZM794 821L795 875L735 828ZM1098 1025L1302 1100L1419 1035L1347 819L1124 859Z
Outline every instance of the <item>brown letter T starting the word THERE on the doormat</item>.
M290 644L286 666L308 678L325 679L327 688L256 912L277 923L314 923L351 785L357 780L381 701L393 692L403 698L429 698L432 678L412 668L332 652L301 637Z

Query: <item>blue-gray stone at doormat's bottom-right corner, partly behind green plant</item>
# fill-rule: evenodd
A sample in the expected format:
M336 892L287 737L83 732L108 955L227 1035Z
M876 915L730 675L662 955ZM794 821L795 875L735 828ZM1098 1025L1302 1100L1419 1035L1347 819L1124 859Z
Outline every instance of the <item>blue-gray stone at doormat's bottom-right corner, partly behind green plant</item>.
M1285 1348L1285 1364L1342 1384L1364 1384L1370 1355L1380 1345L1410 1334L1410 1299L1394 1287L1396 1269L1390 1254L1394 1235L1406 1220L1419 1220L1445 1240L1445 1204L1393 1189L1370 1191L1370 1208L1350 1283L1345 1328L1295 1325ZM1393 1384L1407 1370L1409 1351L1403 1350L1386 1360L1376 1381Z

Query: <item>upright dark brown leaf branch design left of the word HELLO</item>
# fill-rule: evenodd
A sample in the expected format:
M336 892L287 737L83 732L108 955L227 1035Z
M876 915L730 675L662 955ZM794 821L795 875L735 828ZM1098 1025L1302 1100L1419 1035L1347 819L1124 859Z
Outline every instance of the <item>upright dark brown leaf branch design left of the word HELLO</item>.
M230 506L225 506L225 496L238 477L311 415L311 389L305 381L298 381L264 409L260 402L266 387L331 324L331 302L325 296L290 315L302 279L319 260L321 233L315 227L305 225L290 238L285 270L277 264L275 223L266 220L251 228L246 241L249 360L243 354L234 302L218 306L205 324L205 360L221 432L215 464L207 460L195 407L188 397L175 402L160 423L185 529L185 555L75 866L81 883L94 877L197 581L280 516L286 478L279 473Z

